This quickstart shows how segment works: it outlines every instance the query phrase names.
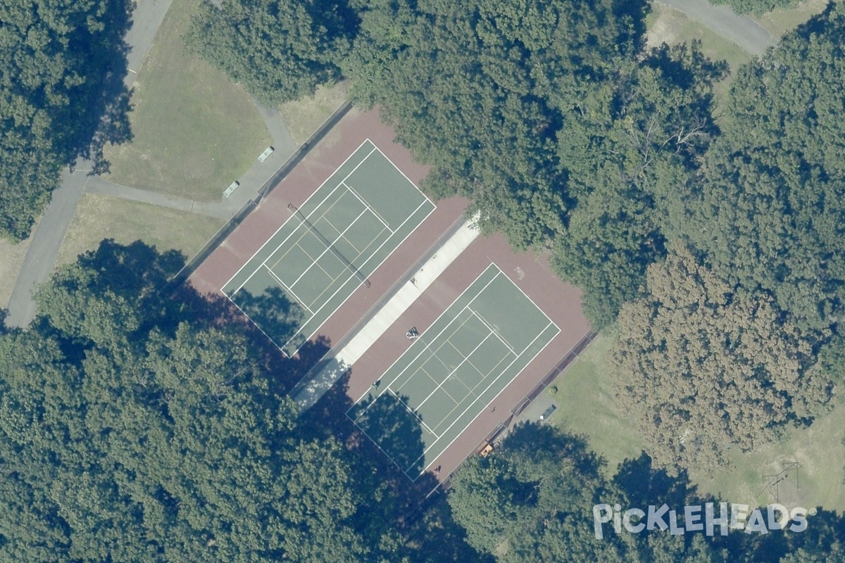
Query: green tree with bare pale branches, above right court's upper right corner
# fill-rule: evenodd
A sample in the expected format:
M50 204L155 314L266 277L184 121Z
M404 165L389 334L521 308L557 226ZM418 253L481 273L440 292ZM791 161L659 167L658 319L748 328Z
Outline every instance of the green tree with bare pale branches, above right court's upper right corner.
M593 328L613 322L639 294L646 267L664 256L668 207L717 134L712 85L724 73L697 43L664 45L621 66L598 95L566 102L558 153L576 204L552 263L584 290Z

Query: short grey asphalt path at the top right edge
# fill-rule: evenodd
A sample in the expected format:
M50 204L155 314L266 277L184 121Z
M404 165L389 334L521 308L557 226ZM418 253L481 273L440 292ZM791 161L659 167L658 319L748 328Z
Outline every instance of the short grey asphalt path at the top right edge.
M728 41L733 41L744 51L760 57L766 49L777 45L777 37L748 16L733 13L728 6L713 6L706 0L658 0L660 3L679 9L690 19L704 24Z

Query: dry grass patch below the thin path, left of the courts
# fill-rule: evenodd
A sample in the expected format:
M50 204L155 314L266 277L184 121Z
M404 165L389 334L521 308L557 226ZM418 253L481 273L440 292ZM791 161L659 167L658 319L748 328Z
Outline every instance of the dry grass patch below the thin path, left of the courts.
M79 200L56 264L74 262L79 254L94 250L106 238L123 244L140 239L160 252L181 251L187 259L194 256L224 222L150 203L86 193Z

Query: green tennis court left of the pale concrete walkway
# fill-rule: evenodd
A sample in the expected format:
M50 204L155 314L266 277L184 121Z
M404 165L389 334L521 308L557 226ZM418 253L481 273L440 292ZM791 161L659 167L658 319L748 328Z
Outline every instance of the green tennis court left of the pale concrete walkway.
M434 210L369 140L299 208L222 291L287 355L357 290Z

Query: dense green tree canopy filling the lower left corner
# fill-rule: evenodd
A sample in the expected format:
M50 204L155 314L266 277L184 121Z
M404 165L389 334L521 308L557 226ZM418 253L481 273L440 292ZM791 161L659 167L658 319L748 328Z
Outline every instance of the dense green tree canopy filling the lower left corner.
M0 333L0 559L430 560L389 472L303 428L241 325L162 295L182 264L105 241Z

